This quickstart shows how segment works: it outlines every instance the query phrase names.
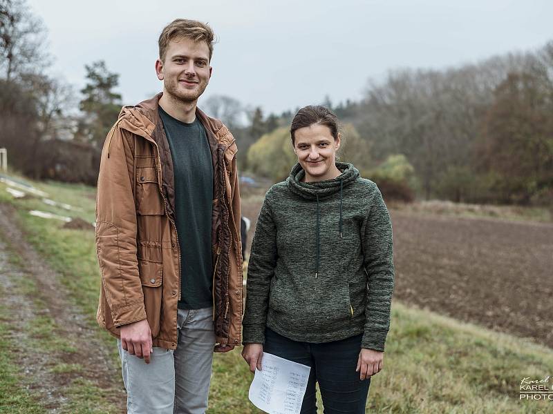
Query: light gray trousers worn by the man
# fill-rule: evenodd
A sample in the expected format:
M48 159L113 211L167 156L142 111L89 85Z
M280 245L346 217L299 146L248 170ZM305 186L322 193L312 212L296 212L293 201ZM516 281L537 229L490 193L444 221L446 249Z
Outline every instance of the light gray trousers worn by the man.
M153 348L150 363L118 340L129 414L200 414L207 409L215 333L213 308L178 310L175 351Z

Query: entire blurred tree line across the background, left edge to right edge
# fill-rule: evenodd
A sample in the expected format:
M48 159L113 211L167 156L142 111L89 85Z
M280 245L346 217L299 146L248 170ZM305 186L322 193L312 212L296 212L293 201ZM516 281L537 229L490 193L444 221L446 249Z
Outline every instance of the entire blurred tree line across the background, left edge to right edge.
M122 106L119 75L92 62L77 94L48 74L46 29L25 0L0 0L0 23L0 146L26 175L95 184ZM388 198L553 204L553 41L444 70L392 70L359 101L322 104L342 123L339 158ZM232 130L241 171L288 175L297 108L265 115L221 95L200 106Z

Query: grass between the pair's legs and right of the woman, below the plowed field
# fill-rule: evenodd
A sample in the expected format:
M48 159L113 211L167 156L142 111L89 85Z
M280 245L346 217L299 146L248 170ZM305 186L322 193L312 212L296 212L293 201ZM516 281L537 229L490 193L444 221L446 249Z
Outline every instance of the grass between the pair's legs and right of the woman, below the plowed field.
M384 370L371 382L371 413L546 413L552 408L553 402L518 400L523 377L553 372L553 352L523 339L395 302L384 355ZM238 352L216 355L208 412L259 412L247 401L251 380Z

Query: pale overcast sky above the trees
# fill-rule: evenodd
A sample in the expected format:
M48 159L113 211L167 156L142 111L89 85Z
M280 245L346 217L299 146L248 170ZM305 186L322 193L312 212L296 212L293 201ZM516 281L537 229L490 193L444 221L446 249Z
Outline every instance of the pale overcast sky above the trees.
M84 65L120 74L125 104L161 90L154 63L176 18L214 28L204 97L229 95L265 113L359 99L387 70L446 68L553 39L551 0L28 0L48 28L52 71L80 89ZM201 105L201 99L200 99Z

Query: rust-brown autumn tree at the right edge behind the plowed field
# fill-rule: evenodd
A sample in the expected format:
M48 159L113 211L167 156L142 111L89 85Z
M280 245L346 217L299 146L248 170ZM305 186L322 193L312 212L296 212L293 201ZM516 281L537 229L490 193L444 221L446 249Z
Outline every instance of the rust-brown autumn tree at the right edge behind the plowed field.
M481 167L496 173L494 190L504 202L553 195L553 83L544 75L509 74L482 126Z

